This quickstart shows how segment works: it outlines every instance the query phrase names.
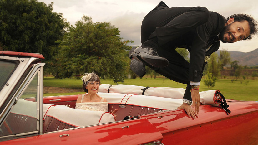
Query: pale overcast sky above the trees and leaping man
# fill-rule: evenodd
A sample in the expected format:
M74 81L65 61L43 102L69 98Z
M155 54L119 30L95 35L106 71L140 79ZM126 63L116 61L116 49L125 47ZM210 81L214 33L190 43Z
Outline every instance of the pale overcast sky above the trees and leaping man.
M53 12L62 13L63 18L74 26L83 15L93 22L110 22L119 28L120 36L141 45L141 22L145 15L159 4L159 0L38 0L53 4ZM218 12L224 17L235 13L246 13L258 20L257 0L164 0L169 7L202 6ZM235 43L220 43L220 50L250 52L258 48L258 38Z

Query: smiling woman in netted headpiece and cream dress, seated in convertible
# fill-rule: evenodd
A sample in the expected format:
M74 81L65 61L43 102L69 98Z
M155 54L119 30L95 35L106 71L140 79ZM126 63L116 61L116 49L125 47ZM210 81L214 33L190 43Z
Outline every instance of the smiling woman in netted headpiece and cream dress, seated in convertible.
M76 101L75 109L83 109L90 111L108 111L108 102L106 99L100 97L97 93L99 90L100 79L94 72L85 73L82 77L82 89L86 94L79 95ZM116 118L118 109L112 111Z

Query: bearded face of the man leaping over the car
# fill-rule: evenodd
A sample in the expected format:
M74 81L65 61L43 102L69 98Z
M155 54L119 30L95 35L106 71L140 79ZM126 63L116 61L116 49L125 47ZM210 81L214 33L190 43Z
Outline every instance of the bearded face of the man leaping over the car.
M224 43L233 43L243 40L250 35L250 27L248 22L234 22L234 18L230 18L220 32L220 40Z

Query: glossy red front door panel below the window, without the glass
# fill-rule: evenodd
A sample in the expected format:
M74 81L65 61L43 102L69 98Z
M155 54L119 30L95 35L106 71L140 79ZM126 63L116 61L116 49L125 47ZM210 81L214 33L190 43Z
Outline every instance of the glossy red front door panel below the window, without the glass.
M128 126L128 127L127 127ZM69 136L65 135L69 134ZM60 137L63 135L63 137ZM43 135L1 142L6 145L45 145L47 144L126 144L137 145L161 141L159 130L147 119L133 119L91 127L73 128Z

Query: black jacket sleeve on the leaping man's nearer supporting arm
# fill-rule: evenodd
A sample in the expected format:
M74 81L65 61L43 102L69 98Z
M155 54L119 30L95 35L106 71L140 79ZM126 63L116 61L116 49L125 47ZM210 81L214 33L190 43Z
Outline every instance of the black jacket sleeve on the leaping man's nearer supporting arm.
M189 81L200 82L203 66L205 66L207 42L211 36L218 35L224 25L225 17L216 12L210 12L208 22L196 27L190 53Z

